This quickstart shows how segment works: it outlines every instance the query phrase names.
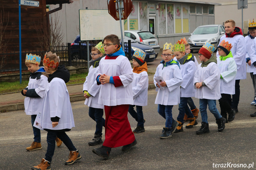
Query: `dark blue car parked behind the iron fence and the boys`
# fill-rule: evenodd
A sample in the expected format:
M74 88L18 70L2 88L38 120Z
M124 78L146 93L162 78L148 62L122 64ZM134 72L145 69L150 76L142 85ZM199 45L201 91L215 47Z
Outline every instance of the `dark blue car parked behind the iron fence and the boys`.
M131 56L133 55L134 51L139 49L139 50L143 50L147 53L144 61L152 62L152 61L155 60L155 51L151 46L139 43L137 41L134 41L131 38L124 37L125 56L129 60L131 60L131 57L130 58L128 57L128 40L131 40ZM74 41L71 43L72 59L73 60L76 60L76 59L87 60L87 44L86 43L81 43L81 45L82 45L82 51L81 51L82 56L79 56L79 41L80 41L80 35L77 35L76 38L74 39ZM120 43L120 45L122 45L122 44ZM89 44L90 52L91 52L91 47L92 47L91 44ZM90 59L92 59L91 56L90 56Z

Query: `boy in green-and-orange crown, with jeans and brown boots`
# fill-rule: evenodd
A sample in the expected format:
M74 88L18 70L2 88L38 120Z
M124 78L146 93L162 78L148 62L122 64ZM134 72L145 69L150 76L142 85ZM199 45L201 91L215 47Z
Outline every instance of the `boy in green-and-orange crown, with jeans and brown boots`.
M174 55L179 61L180 71L182 74L183 82L180 85L180 104L179 104L179 115L177 117L177 126L175 132L183 132L184 115L187 115L189 123L186 128L192 128L197 125L195 116L187 106L187 100L191 97L195 97L195 88L193 87L193 78L196 71L195 58L192 54L185 53L186 39L181 39L175 44Z

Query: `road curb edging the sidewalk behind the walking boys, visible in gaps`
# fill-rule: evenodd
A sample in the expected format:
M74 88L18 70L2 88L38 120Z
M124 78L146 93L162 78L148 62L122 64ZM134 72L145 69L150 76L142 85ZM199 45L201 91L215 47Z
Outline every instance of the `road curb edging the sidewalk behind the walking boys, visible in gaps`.
M154 83L151 83L148 85L148 90L155 89ZM69 96L71 102L75 101L83 101L85 100L85 97L83 94L79 95L71 95ZM0 106L0 112L7 112L7 111L15 111L15 110L24 110L24 102L22 103L14 103L14 104L7 104Z

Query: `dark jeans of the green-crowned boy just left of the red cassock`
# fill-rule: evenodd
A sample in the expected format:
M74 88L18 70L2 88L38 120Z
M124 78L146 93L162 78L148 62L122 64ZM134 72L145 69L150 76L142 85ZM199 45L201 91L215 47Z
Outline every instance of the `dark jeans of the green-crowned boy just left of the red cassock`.
M102 126L105 127L105 119L103 116L103 109L89 107L89 116L96 122L95 134L102 135Z

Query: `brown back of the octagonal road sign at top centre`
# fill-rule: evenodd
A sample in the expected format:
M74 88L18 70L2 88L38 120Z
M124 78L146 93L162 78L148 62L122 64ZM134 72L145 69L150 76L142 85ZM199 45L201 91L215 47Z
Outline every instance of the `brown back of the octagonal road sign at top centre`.
M120 2L119 2L120 1ZM120 3L120 7L117 4ZM121 18L122 20L127 19L127 17L132 12L132 0L108 0L108 10L109 14L115 18L115 20L119 20L119 8L121 8Z

